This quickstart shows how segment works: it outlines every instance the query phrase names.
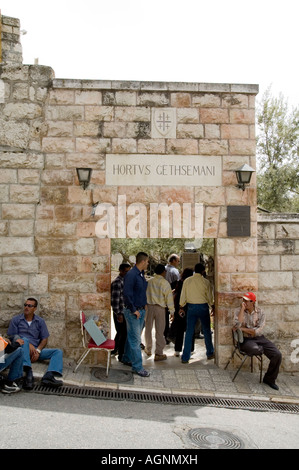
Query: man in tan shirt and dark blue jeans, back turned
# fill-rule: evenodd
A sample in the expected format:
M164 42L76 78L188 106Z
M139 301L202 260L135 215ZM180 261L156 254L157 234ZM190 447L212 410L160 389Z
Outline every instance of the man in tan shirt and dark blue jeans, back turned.
M187 329L182 354L182 363L187 364L191 356L192 337L195 331L197 320L201 321L204 334L206 354L208 359L213 359L214 346L211 334L211 319L209 305L214 311L214 299L212 287L209 281L204 277L205 267L198 263L195 265L192 277L185 279L180 296L180 313L184 314L183 307L188 304L187 309Z

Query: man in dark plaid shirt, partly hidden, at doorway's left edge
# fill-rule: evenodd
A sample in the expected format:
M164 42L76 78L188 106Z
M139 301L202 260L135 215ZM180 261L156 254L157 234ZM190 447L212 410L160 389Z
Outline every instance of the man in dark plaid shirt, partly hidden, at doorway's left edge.
M111 307L113 310L113 320L116 329L115 341L115 354L118 352L118 360L122 361L125 343L127 339L127 326L124 317L124 278L130 271L131 266L127 263L122 263L119 266L119 275L111 283Z

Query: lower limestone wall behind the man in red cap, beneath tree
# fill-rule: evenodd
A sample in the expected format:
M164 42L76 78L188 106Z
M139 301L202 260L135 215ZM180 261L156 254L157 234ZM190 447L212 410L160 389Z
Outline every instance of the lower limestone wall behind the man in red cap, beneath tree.
M281 350L283 369L298 372L299 214L259 214L258 254L265 335Z

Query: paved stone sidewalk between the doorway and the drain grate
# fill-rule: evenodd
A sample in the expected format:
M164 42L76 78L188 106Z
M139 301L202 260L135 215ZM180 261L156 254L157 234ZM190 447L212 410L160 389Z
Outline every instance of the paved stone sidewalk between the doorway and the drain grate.
M167 354L167 360L161 362L155 362L154 356L148 358L142 353L144 368L150 372L150 377L147 378L131 374L131 368L124 366L115 357L112 357L108 379L105 377L104 366L91 367L84 363L74 374L75 361L64 358L63 381L65 385L110 390L246 398L299 404L299 372L280 373L277 379L279 390L275 391L259 383L258 370L251 373L242 369L232 382L235 369L230 365L228 370L223 370L213 361L208 361L205 358L203 340L196 340L196 353L189 364L182 364L180 358L174 356L173 345L168 345L164 352ZM47 365L36 363L33 366L35 378L42 377Z

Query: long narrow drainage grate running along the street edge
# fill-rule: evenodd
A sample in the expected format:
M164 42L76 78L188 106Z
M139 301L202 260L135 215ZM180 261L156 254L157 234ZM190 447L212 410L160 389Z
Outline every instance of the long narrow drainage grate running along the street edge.
M93 387L64 385L58 389L35 385L33 392L45 395L59 395L77 398L99 398L102 400L138 401L162 403L164 405L212 406L218 408L242 409L249 411L278 411L281 413L299 413L299 405L291 403L273 403L259 400L204 397L194 395L172 395L167 393L136 392L109 390Z

